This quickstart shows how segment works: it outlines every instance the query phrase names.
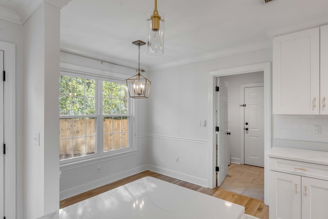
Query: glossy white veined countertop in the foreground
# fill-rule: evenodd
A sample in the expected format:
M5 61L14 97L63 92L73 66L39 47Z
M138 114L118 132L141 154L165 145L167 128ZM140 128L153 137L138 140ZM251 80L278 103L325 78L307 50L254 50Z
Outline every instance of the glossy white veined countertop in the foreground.
M59 218L239 219L244 207L153 177L59 210Z

